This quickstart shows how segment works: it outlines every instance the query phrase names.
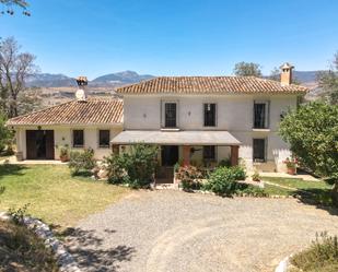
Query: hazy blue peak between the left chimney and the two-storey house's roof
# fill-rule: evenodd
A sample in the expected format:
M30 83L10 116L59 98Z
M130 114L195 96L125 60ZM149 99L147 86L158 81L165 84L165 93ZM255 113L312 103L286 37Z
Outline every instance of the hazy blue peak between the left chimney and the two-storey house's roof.
M102 76L96 78L91 81L91 85L100 85L100 86L108 86L108 85L125 85L138 83L140 81L150 80L154 78L150 74L138 74L133 71L124 71L118 73L109 73Z

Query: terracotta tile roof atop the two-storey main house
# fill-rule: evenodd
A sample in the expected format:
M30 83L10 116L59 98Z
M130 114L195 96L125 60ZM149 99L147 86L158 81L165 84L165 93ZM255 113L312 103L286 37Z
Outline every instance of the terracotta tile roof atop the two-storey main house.
M119 87L119 94L223 94L223 93L306 93L300 85L282 86L280 82L255 76L160 76Z

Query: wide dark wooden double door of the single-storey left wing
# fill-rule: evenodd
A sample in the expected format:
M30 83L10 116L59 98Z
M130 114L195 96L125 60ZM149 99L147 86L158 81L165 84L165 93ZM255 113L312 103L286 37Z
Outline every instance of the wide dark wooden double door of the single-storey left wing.
M54 159L54 130L26 130L27 159Z

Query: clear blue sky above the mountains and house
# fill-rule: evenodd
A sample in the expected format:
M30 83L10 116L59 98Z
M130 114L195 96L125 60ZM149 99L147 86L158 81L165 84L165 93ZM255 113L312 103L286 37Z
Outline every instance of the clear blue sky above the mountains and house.
M231 74L240 61L268 74L284 61L326 69L338 50L335 0L28 0L31 17L0 16L42 72L93 79Z

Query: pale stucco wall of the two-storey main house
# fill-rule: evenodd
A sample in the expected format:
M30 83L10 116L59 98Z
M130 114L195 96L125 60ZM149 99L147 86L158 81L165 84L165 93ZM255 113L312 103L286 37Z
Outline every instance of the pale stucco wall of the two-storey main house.
M296 95L125 95L126 130L161 129L162 103L177 102L182 130L228 130L238 141L240 157L248 169L284 170L282 161L290 156L288 145L278 135L280 115L296 107ZM269 129L253 129L254 100L269 102ZM217 104L217 127L203 127L203 103ZM267 163L253 163L253 139L267 139ZM229 157L230 149L218 147L218 159ZM194 157L191 158L194 159Z

